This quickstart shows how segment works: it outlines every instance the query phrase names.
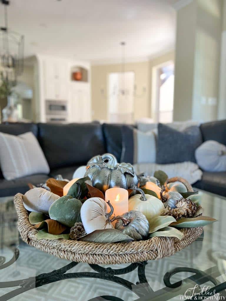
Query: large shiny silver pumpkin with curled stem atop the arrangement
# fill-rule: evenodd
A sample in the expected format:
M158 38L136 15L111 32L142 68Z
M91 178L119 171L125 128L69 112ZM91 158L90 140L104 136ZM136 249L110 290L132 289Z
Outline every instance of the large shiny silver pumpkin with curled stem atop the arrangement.
M93 186L105 192L108 188L130 188L138 185L138 177L130 163L117 163L112 154L98 155L89 160L85 177L88 176Z

